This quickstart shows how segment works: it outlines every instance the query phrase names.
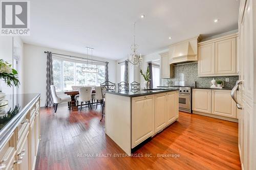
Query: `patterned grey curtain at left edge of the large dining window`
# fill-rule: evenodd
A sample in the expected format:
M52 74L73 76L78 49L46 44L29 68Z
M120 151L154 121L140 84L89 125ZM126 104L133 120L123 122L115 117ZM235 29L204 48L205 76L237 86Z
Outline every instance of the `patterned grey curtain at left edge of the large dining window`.
M52 66L52 53L47 52L46 63L46 104L45 107L53 106L53 98L51 92L51 85L53 85L53 66Z

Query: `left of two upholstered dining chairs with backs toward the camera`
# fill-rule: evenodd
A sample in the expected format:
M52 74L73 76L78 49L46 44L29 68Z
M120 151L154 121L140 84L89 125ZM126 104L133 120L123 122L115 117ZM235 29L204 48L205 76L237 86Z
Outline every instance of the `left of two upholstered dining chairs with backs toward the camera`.
M79 97L77 98L77 101L81 103L80 111L82 110L83 102L88 103L88 106L92 109L92 106L91 106L92 87L79 87L78 91L79 91Z

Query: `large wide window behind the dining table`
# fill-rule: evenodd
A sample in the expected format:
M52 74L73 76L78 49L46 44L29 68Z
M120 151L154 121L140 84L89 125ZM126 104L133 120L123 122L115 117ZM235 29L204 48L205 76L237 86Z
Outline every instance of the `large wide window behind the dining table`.
M98 74L82 72L82 67L86 66L86 62L53 57L53 82L56 91L72 90L72 86L99 86L105 81L104 64L93 63L92 67L99 69Z

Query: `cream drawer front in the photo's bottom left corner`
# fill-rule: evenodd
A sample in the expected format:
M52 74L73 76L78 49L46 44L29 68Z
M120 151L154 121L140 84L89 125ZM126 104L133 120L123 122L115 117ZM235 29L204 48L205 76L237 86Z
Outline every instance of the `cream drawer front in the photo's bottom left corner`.
M13 164L13 158L15 155L15 148L13 142L14 135L11 139L4 145L0 151L0 169L10 169L9 167Z

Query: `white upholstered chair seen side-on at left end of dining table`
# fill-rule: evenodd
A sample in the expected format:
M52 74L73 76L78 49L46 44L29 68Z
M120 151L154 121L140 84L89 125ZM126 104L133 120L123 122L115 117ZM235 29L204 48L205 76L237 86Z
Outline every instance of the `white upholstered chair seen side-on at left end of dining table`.
M67 94L57 95L56 88L54 85L51 85L52 98L54 103L54 113L57 111L57 107L59 103L68 102L69 110L71 105L71 97Z

